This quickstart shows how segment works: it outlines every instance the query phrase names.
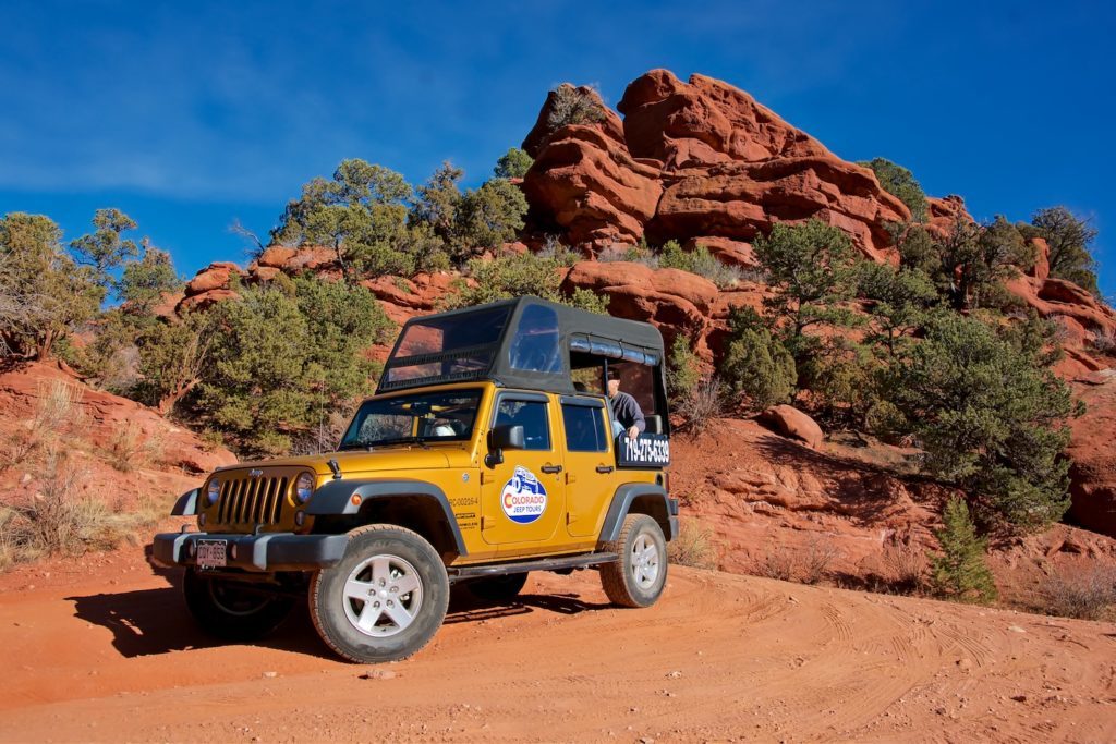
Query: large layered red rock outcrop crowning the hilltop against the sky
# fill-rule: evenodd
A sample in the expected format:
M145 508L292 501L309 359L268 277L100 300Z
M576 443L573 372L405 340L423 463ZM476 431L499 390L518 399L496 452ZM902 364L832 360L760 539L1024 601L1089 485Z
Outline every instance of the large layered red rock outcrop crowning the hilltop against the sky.
M895 260L886 224L908 220L907 207L869 170L727 83L652 70L617 106L620 133L612 112L547 131L554 96L523 142L536 157L523 192L536 226L562 229L590 253L645 231L658 243L750 241L776 222L814 218L848 232L865 255Z

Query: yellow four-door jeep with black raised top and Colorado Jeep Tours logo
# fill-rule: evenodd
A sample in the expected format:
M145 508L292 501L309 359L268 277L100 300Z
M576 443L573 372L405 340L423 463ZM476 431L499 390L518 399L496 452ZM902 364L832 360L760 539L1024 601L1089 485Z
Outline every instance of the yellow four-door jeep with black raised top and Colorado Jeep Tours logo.
M360 663L422 648L458 582L501 601L530 571L594 568L647 607L677 533L663 363L653 326L538 298L415 318L336 452L218 470L173 510L199 531L154 557L185 567L206 631L258 638L308 595ZM608 379L644 431L615 421Z

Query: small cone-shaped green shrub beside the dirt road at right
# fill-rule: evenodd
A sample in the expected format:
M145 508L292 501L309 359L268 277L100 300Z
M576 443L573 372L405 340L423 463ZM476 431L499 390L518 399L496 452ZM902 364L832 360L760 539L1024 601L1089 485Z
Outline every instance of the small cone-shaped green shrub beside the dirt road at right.
M988 540L977 537L964 499L953 497L946 502L942 522L942 529L935 532L942 554L931 558L931 583L935 593L962 602L987 605L995 601L995 581L984 562Z

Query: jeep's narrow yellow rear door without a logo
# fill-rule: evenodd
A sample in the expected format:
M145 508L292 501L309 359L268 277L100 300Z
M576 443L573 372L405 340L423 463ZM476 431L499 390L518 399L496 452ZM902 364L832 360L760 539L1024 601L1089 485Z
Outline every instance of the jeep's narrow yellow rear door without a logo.
M573 538L596 538L617 485L605 421L607 408L603 399L589 397L562 397L560 405L567 532Z

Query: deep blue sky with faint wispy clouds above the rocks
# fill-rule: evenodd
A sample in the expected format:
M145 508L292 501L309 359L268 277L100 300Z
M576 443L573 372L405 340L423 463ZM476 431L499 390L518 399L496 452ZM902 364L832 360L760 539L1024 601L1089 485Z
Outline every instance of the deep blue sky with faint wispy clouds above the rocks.
M0 213L118 206L192 274L345 157L481 182L569 80L703 73L978 218L1066 204L1116 293L1104 2L51 2L0 7Z

